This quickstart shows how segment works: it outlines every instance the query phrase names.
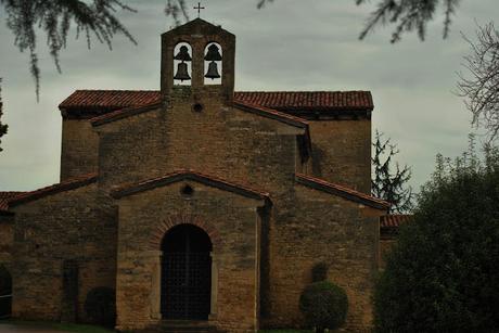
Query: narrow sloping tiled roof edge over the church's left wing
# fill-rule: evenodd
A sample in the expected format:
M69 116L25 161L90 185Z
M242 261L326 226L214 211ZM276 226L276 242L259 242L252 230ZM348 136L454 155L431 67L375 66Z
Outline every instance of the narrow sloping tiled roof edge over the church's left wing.
M90 174L85 176L79 176L75 178L67 179L60 183L55 183L49 187L44 187L35 191L24 192L20 195L14 196L13 198L9 200L9 207L17 206L23 203L27 203L46 195L56 194L64 191L74 190L89 183L95 182L98 179L97 174Z

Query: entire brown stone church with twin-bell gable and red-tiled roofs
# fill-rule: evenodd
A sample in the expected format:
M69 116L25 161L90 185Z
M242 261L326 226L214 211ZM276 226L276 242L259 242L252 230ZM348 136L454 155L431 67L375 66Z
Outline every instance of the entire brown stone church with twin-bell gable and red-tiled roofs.
M158 91L61 103L61 182L0 209L13 317L89 321L107 287L119 330L299 326L327 262L368 329L388 207L369 194L370 92L234 92L235 36L200 18L161 61Z

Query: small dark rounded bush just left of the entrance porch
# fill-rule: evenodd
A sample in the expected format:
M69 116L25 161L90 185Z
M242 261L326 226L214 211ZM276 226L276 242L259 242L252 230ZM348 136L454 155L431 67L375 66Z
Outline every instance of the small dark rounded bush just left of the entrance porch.
M99 286L87 294L85 311L93 323L114 326L116 321L116 294L111 287Z

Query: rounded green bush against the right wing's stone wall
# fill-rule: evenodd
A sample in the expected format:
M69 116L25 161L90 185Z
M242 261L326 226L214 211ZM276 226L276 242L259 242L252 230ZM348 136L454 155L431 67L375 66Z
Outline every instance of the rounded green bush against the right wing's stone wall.
M348 298L345 291L329 281L314 282L305 287L299 297L299 309L306 324L334 330L345 323L348 311Z

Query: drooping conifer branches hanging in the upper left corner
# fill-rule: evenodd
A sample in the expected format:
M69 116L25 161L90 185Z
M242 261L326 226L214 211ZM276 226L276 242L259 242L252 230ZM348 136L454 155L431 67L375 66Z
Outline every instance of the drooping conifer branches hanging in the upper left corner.
M59 54L66 46L67 33L72 24L76 25L77 37L82 33L90 48L91 35L110 49L115 34L124 34L136 42L127 28L116 17L116 10L133 11L120 0L0 0L7 15L7 26L14 34L14 46L21 52L29 52L29 69L36 82L37 97L40 88L38 67L37 28L47 35L55 66L61 72Z

